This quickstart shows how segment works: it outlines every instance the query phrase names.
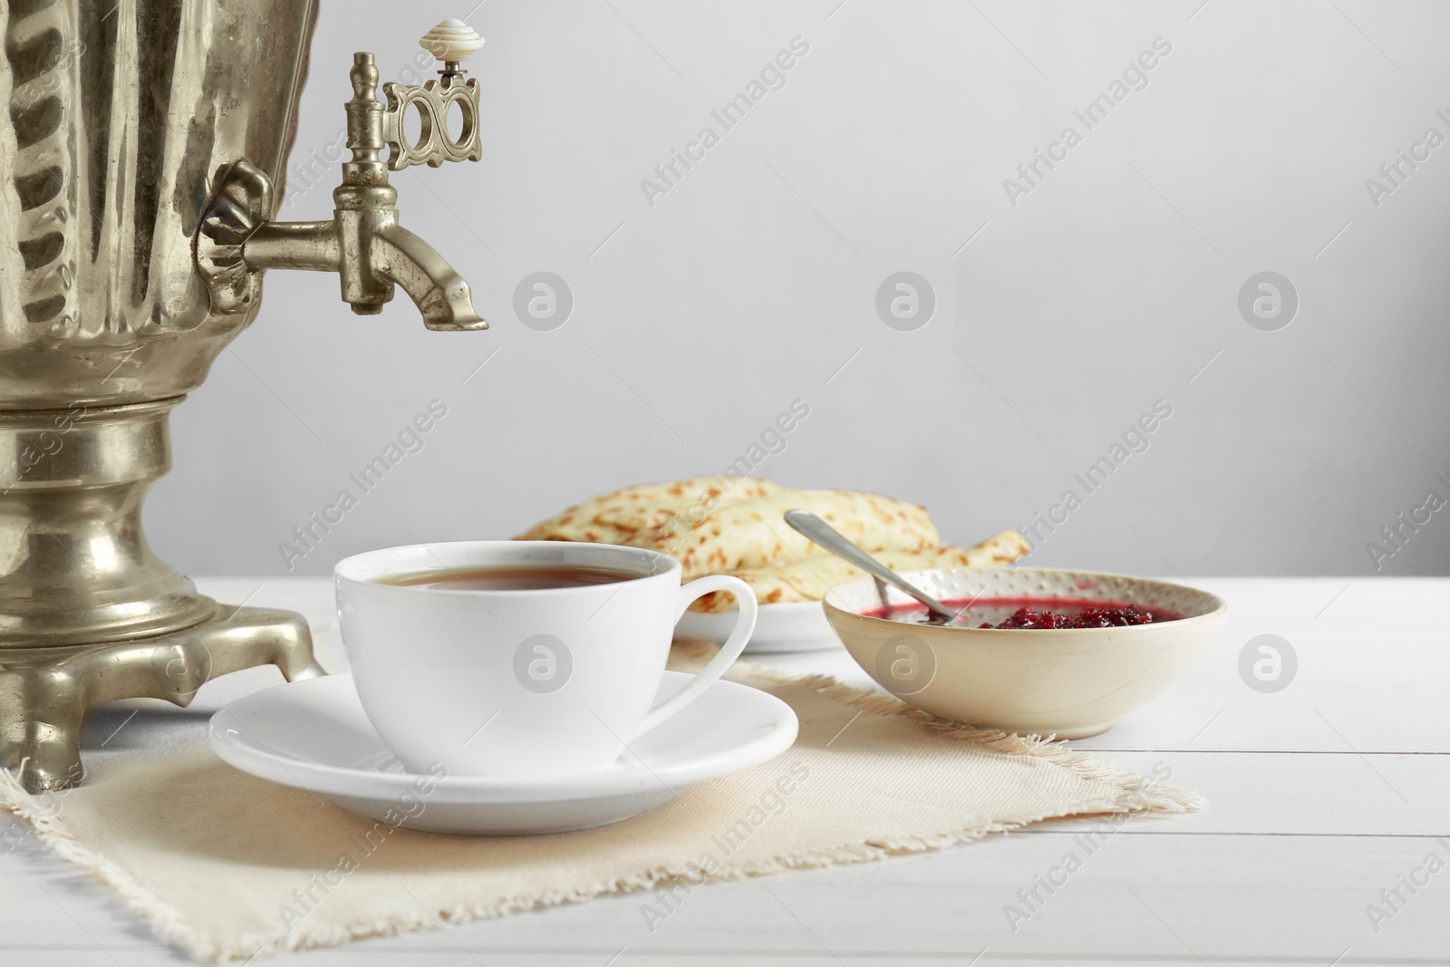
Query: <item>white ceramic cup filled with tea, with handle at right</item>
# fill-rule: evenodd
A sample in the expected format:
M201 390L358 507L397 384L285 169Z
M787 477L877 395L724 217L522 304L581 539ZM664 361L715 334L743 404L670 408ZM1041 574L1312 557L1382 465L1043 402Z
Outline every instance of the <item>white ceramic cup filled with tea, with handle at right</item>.
M441 590L400 577L509 567L594 567L612 584ZM628 742L693 702L755 628L735 577L680 587L674 558L566 541L461 541L370 551L334 576L342 641L362 709L409 771L548 776L608 768ZM709 592L734 592L740 619L684 689L650 707L674 623Z

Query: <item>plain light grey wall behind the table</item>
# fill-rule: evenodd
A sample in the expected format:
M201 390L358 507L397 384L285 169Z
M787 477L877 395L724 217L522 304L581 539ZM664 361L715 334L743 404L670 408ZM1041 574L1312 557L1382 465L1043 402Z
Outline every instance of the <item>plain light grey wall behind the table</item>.
M294 161L336 142L352 51L399 78L470 4L323 3ZM270 273L173 418L148 528L184 570L287 573L278 544L344 487L358 506L291 573L509 536L721 471L798 399L760 474L925 503L960 542L1085 493L1167 400L1044 565L1372 574L1366 542L1450 497L1450 145L1378 207L1366 188L1450 136L1443 3L489 0L468 22L484 158L394 184L493 329L426 332L402 293L355 318L335 277ZM786 86L724 132L710 110L796 36ZM1159 36L1148 86L1085 132L1073 110ZM706 125L719 144L650 206L641 180ZM1014 207L1003 180L1067 125L1082 144ZM336 180L294 177L281 217L328 216ZM513 310L536 271L574 299L548 332ZM909 332L876 312L899 271L937 300ZM1277 332L1237 307L1260 271L1298 291ZM422 451L360 494L348 473L431 400ZM1447 573L1446 518L1380 573Z

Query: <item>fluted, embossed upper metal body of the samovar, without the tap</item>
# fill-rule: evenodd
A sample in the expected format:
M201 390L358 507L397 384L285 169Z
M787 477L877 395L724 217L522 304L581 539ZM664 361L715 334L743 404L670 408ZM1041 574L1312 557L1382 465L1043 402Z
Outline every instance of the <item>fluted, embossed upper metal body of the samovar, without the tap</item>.
M0 409L180 396L251 322L212 312L191 236L223 165L280 187L315 17L0 3Z

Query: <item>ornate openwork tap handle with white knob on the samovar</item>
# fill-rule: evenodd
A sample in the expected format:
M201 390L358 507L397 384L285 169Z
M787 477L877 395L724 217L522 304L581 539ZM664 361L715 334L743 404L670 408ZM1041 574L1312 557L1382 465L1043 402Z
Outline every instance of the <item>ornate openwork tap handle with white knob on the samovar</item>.
M478 81L464 80L467 71L460 62L483 46L483 38L463 20L444 20L418 43L444 67L438 71L439 80L422 87L393 81L383 84L383 94L387 97L383 141L390 148L387 167L402 171L416 164L436 168L444 161L478 161L483 157L478 139ZM448 135L448 112L454 106L461 116L457 139ZM418 110L422 128L413 144L403 135L403 115L409 109Z

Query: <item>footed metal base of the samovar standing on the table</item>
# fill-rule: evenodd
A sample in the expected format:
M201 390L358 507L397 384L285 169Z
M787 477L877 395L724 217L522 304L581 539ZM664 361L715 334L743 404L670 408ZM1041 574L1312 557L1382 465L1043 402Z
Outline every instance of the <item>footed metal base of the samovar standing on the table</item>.
M28 792L67 789L83 776L90 706L165 699L187 706L206 681L273 664L289 681L326 674L302 615L216 605L191 628L100 645L0 648L0 767Z

